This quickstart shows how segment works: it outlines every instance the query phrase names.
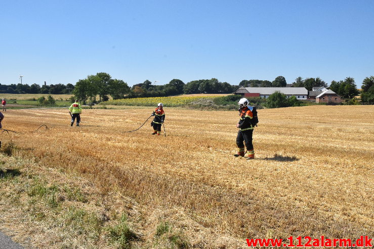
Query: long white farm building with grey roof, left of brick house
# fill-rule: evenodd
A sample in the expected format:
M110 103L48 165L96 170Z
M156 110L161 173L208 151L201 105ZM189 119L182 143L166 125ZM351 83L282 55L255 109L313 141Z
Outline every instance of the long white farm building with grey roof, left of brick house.
M308 90L305 87L240 87L234 94L240 94L244 97L264 97L268 98L270 94L279 91L287 97L296 96L297 99L306 100Z

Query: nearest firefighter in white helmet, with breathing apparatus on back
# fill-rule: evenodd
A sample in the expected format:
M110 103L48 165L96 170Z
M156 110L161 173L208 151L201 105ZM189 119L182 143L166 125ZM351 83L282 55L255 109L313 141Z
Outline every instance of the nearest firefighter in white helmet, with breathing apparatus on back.
M252 134L254 125L252 123L253 113L252 107L248 107L248 99L241 98L238 102L240 105L239 108L239 116L240 120L236 124L236 127L239 128L238 135L236 137L236 145L238 146L238 153L235 154L235 157L244 157L244 144L247 150L247 159L254 159L255 158L255 151L253 149L252 144Z

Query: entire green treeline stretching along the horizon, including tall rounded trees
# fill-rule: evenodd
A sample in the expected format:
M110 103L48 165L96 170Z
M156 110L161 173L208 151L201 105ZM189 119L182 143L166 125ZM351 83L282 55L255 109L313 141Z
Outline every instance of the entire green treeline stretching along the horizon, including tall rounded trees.
M374 76L366 77L362 82L362 102L374 102ZM216 78L193 80L184 83L182 80L173 79L167 84L156 85L151 81L145 80L143 83L135 84L129 87L126 82L119 79L112 79L108 73L97 73L89 75L86 79L78 80L75 84L0 84L0 93L43 93L43 94L74 94L80 101L86 103L89 99L91 103L97 101L107 101L109 96L113 99L134 98L134 97L162 97L179 94L196 93L233 93L240 86L244 87L305 87L312 90L314 86L325 86L325 81L316 78L298 77L292 84L287 84L283 76L276 77L273 81L269 80L242 80L239 85L230 85L227 82L221 82ZM357 85L353 78L347 77L345 80L333 80L329 88L338 93L343 98L353 98L359 94ZM96 96L99 95L99 99Z

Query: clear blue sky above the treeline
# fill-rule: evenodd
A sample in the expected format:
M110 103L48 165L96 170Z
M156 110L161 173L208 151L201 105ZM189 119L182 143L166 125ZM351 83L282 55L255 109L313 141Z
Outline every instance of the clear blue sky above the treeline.
M0 83L374 75L374 1L1 1Z

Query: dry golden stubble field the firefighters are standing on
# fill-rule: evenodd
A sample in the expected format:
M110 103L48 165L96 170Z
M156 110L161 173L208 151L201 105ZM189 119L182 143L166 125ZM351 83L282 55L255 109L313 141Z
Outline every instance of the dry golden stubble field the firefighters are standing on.
M1 140L18 157L87 180L105 199L102 212L129 215L141 248L155 246L160 220L195 248L374 236L373 106L259 110L252 161L232 156L236 112L164 109L167 137L152 136L149 122L126 132L152 108L83 110L79 128L67 110L12 110L3 128L23 133ZM34 131L42 124L49 129Z

